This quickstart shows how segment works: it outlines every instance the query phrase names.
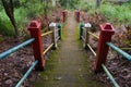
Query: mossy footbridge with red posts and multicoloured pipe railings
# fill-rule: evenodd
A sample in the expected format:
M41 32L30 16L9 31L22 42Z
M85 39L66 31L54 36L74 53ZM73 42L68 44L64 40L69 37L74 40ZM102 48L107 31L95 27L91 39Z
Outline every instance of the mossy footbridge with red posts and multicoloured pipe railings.
M96 36L91 32L90 23L79 25L75 18L80 22L80 13L76 12L73 15L63 12L64 23L51 23L50 30L47 33L41 33L41 24L33 21L28 26L31 39L0 53L0 60L2 60L28 44L33 45L35 61L15 87L21 87L34 69L41 71L34 87L120 87L106 67L109 47L129 61L131 55L111 42L111 36L115 34L112 25L102 24L100 35ZM48 47L43 45L43 37L46 36L50 36L51 39ZM90 36L98 39L96 52L90 45ZM85 51L83 47L88 50ZM56 51L50 54L49 60L46 60L45 54L50 49ZM94 57L91 58L91 55ZM109 77L110 85L96 78L96 74L103 71Z

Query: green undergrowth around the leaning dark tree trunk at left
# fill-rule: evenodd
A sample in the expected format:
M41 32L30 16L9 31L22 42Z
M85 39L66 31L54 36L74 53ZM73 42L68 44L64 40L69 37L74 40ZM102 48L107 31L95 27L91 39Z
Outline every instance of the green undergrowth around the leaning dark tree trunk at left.
M39 16L40 14L44 14L44 8L46 8L45 4L38 1L36 1L36 3L34 4L28 1L27 3L24 3L24 5L15 8L14 17L16 21L19 32L23 32L24 29L26 29L25 27L27 27L31 20L33 20L36 16ZM49 5L48 10L51 9L53 8ZM13 26L2 7L0 7L0 34L3 36L14 35Z

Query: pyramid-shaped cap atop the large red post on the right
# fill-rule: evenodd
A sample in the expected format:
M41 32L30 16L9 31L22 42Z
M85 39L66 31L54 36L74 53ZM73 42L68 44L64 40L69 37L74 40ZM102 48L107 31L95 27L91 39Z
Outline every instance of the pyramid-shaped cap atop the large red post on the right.
M115 34L115 28L112 27L112 25L110 23L105 23L99 26L100 26L102 32L109 32L109 33Z

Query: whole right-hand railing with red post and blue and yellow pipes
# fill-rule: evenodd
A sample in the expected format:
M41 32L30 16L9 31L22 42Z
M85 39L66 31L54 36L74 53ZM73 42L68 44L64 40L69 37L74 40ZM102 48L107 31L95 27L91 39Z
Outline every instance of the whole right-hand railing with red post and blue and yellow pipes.
M84 30L87 29L87 30ZM93 54L96 57L94 70L95 72L102 71L102 69L106 72L108 77L110 78L111 83L114 84L115 87L120 87L112 75L109 73L107 67L104 65L106 63L106 58L108 53L109 47L112 48L115 51L127 58L129 61L131 61L131 55L128 54L127 52L122 51L120 48L116 47L114 44L111 44L111 36L115 33L112 26L107 23L105 25L100 25L100 36L96 36L95 34L91 33L90 27L84 27L84 24L80 25L80 39L82 39L85 45L90 48L90 50L93 52ZM85 32L85 33L84 33ZM86 35L84 35L86 34ZM97 48L97 53L93 50L93 48L88 44L88 35L92 35L93 37L97 38L98 41L98 48ZM86 37L84 37L86 36ZM87 41L86 41L87 40ZM107 47L108 46L108 47ZM103 61L102 61L103 60Z

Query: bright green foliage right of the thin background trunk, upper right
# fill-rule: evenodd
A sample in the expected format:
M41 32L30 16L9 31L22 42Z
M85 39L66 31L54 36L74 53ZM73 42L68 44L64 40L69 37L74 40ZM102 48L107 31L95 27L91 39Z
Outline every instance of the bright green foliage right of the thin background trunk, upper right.
M108 21L114 23L124 23L131 22L131 10L129 5L114 5L110 3L103 4L98 10Z

